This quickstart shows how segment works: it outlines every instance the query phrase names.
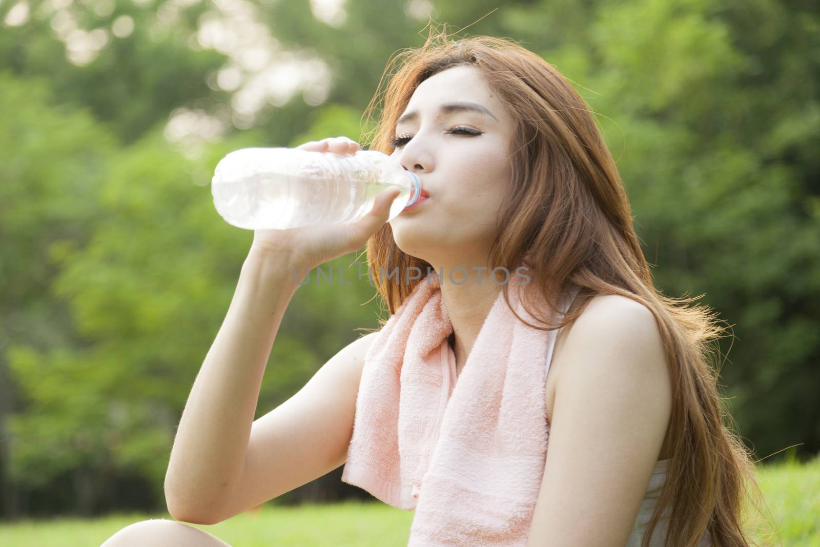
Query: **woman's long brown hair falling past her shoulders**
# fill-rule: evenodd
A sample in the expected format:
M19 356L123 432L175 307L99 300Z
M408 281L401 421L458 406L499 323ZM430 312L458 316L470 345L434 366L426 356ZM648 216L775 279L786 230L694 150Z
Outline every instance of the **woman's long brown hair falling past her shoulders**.
M621 176L590 107L567 79L511 39L453 40L431 32L421 48L403 50L388 63L385 73L398 69L367 106L370 121L383 98L378 123L362 140L370 149L393 153L389 139L414 90L431 75L459 65L478 68L517 120L510 143L512 191L499 213L489 263L508 271L526 266L550 309L558 309L567 287L579 290L562 321L553 323L549 313L527 308L533 317L543 317L548 329L571 324L597 294L640 302L658 321L673 380L673 456L643 547L661 515L669 519L664 545L696 545L704 534L715 547L750 545L744 502L753 488L763 496L751 453L731 431L733 419L717 390L716 340L726 329L710 308L688 306L703 295L675 299L655 289ZM389 224L368 240L367 263L371 271L398 269L393 283L374 277L391 314L421 282L405 278L408 268L419 268L422 279L434 269L403 253ZM506 285L503 294L509 304Z

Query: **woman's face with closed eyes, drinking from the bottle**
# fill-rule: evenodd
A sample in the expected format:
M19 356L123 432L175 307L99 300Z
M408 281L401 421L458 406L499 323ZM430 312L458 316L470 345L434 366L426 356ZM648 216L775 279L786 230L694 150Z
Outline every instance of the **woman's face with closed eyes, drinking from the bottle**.
M441 108L449 103L479 106ZM475 67L454 66L421 82L396 125L391 155L430 194L389 223L404 253L436 269L486 265L511 185L512 130L510 115Z

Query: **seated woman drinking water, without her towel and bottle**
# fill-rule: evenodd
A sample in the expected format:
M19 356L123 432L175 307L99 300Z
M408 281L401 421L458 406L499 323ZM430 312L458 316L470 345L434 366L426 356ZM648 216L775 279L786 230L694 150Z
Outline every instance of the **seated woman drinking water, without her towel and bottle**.
M754 464L724 425L710 361L723 329L707 308L679 305L695 299L654 288L589 108L553 66L510 40L440 38L397 57L405 62L389 80L370 147L417 174L429 198L389 224L394 189L344 226L255 232L175 438L165 485L171 514L221 522L348 460L365 357L379 332L342 349L280 407L253 416L298 288L294 268L307 273L367 243L371 271L398 268L399 282L374 278L391 317L423 282L409 276L413 267L445 272L440 297L456 376L499 294L507 298L508 286L488 282L488 271L525 267L549 309L576 289L560 321L533 311L549 327L542 330L556 330L543 384L549 458L535 477L543 488L526 515L528 533L513 545L749 545L741 510L756 486ZM355 153L359 145L339 137L299 148ZM449 275L456 269L458 282ZM153 520L103 545L226 544ZM475 544L465 537L462 545Z

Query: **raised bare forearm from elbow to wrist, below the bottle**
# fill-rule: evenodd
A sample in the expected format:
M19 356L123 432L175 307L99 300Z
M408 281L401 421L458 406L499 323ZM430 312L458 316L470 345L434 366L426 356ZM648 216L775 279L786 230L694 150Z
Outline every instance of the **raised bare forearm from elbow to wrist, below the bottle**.
M296 289L289 262L251 249L176 432L165 477L175 518L207 520L239 480L267 358Z

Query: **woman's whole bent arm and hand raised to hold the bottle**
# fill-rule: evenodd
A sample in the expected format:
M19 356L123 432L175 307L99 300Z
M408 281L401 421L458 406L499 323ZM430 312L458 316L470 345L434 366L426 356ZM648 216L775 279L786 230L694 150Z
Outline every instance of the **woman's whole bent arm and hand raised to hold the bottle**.
M360 147L338 137L298 148L353 154ZM385 225L398 195L398 188L383 190L371 211L356 221L254 231L234 298L176 432L165 477L166 504L173 517L198 524L219 522L248 504L262 503L266 495L276 497L340 465L350 435L348 422L352 427L361 374L357 356L363 343L339 352L328 362L330 367L323 367L326 370L303 390L254 426L259 388L282 316L298 289L294 267L302 280L311 267L362 248ZM339 389L335 381L347 387ZM328 414L330 421L325 419ZM294 432L295 438L283 436ZM310 433L326 442L311 439Z

